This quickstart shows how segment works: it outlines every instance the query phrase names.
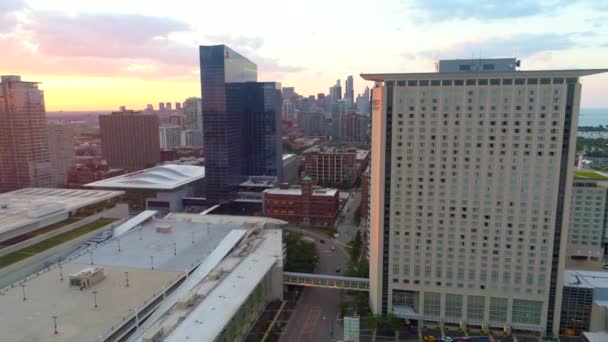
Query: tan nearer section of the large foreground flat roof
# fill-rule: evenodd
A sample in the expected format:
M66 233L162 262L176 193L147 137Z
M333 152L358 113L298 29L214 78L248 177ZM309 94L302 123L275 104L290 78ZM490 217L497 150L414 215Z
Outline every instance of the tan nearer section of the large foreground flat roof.
M0 295L0 329L3 341L95 341L112 325L132 315L130 310L150 301L155 293L175 281L183 272L159 272L140 268L106 267L106 278L90 288L70 287L68 275L89 265L63 265L64 280L55 268L25 283L26 300L21 286ZM124 272L129 272L129 287L124 286ZM98 307L94 307L97 291ZM58 335L53 334L57 316Z

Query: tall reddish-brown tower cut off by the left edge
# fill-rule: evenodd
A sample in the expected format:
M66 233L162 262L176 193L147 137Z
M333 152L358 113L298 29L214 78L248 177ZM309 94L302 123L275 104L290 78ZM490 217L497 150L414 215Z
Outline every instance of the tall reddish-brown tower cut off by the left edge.
M0 77L0 192L51 185L44 93L20 76Z

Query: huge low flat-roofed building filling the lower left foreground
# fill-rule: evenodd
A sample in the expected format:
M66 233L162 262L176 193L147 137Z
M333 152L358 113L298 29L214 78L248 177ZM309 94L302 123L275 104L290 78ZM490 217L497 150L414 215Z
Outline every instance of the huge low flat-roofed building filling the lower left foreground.
M285 224L198 214L127 221L2 289L3 340L240 340L282 299Z

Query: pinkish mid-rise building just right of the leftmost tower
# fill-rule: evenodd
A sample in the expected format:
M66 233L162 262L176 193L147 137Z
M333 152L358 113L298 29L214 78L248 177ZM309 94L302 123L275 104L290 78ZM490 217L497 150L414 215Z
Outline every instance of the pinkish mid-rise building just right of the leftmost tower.
M52 185L58 188L67 186L67 172L74 164L74 129L67 124L49 123L49 156L51 160Z

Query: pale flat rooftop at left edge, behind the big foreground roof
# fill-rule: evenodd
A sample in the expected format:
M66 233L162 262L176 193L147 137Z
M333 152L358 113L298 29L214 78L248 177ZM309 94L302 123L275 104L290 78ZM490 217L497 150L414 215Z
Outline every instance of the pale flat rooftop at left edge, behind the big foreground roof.
M0 194L0 233L124 194L122 191L25 188Z

